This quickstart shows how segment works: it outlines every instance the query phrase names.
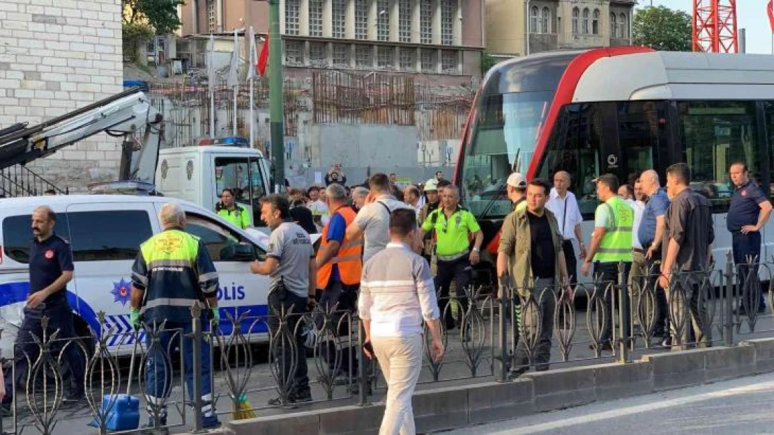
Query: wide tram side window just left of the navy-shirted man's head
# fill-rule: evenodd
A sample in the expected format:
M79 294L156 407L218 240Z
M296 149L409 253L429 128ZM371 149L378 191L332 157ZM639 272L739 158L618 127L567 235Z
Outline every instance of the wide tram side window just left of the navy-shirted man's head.
M755 102L686 101L677 105L683 161L690 187L707 196L714 212L728 212L734 186L729 165L745 161L750 177L762 180Z

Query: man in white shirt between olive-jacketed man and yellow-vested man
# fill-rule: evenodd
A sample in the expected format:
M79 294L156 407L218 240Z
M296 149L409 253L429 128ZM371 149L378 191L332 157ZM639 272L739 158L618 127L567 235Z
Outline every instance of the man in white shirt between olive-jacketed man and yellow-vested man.
M553 189L551 189L550 198L546 202L546 209L557 216L559 232L562 235L562 250L564 259L567 261L567 274L570 275L570 284L577 282L577 259L586 257L586 245L583 243L583 235L580 233L580 223L583 222L583 216L580 216L578 202L573 192L570 192L570 174L566 171L559 171L553 175ZM580 255L575 255L573 241L578 243Z

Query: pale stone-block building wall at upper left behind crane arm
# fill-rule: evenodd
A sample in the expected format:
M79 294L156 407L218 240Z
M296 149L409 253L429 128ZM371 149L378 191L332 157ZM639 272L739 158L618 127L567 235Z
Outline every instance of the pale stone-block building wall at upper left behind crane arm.
M0 2L0 127L30 125L122 90L121 0ZM29 165L64 188L115 178L118 141L99 134Z

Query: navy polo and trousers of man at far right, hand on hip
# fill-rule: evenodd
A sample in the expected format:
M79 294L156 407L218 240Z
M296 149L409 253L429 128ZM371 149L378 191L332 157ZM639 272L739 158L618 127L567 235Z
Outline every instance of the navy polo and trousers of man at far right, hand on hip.
M731 233L731 246L734 252L734 263L737 265L738 274L740 277L741 288L744 289L744 294L748 294L748 298L745 298L747 304L752 308L752 301L755 301L754 295L759 294L759 310L762 311L765 308L765 301L763 299L763 292L760 286L757 288L745 288L745 277L748 274L758 276L758 267L753 267L754 270L749 270L745 267L747 263L747 257L752 257L754 263L759 263L761 259L761 233L758 231L752 233L741 233L741 227L745 225L755 225L758 223L758 217L761 213L761 204L766 199L763 190L756 185L752 180L748 180L745 184L735 189L734 195L731 196L731 206L728 208L728 218L726 220L728 226L728 232ZM755 280L754 282L758 282ZM743 309L746 309L743 308Z

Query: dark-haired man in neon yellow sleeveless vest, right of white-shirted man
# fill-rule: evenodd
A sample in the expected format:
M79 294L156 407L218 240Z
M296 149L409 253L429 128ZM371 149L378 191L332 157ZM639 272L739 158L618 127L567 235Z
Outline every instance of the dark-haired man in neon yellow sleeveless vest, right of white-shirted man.
M594 261L595 284L600 286L598 294L604 294L604 331L599 339L602 350L612 350L610 338L612 335L613 311L612 291L606 291L608 285L613 289L618 283L618 264L624 263L624 276L632 264L632 226L634 225L634 210L618 196L618 177L604 174L596 178L597 197L601 204L594 212L594 233L591 235L591 246L584 260L581 271L588 276L591 262ZM623 336L628 337L628 322L623 325ZM589 345L592 349L594 343Z

